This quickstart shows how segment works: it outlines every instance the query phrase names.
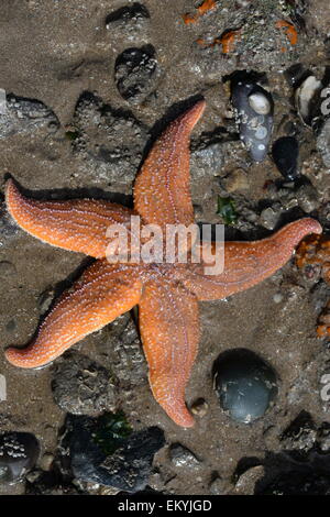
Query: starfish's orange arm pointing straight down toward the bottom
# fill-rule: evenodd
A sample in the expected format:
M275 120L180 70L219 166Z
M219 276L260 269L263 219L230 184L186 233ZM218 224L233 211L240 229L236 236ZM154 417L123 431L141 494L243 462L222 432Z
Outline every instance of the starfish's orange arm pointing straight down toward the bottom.
M199 338L197 298L174 283L151 280L140 307L140 331L155 399L179 426L194 419L185 404Z

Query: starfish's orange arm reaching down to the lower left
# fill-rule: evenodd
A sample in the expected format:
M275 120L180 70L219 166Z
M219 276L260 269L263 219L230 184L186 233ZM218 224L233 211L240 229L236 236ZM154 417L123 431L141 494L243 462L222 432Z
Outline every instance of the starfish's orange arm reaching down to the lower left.
M8 361L23 369L43 366L85 336L134 307L141 297L139 268L96 261L58 299L24 349L9 348Z

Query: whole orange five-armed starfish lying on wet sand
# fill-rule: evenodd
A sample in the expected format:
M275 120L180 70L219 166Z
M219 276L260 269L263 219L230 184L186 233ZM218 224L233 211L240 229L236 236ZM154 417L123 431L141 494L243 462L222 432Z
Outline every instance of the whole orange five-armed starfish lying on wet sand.
M140 216L142 226L158 224L164 231L167 224L194 223L189 139L204 109L204 100L195 103L155 142L135 180L134 210L95 199L35 200L25 197L12 179L7 183L8 210L23 230L96 258L55 302L36 337L25 348L7 349L10 363L23 369L45 365L139 305L153 395L177 425L194 425L185 387L199 341L198 301L221 299L254 286L282 267L305 235L321 233L316 220L304 218L261 241L226 242L224 271L218 275L205 270L216 261L211 242L198 244L215 255L208 254L199 263L193 261L191 245L187 246L187 263L111 263L107 258L108 227L117 223L132 232L131 216Z

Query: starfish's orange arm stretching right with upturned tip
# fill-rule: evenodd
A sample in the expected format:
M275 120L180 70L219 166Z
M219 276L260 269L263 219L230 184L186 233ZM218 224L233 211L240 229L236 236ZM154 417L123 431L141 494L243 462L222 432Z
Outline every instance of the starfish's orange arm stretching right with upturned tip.
M221 299L248 289L273 275L290 258L295 246L309 233L321 233L318 221L310 218L292 222L261 241L227 242L224 268L220 274L205 274L205 266L216 260L189 264L183 284L200 300ZM217 256L215 243L201 244L201 256Z

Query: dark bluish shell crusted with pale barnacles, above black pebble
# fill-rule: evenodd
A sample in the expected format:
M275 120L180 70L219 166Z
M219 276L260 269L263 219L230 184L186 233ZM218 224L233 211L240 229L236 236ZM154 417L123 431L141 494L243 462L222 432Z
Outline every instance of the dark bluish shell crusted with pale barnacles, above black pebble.
M271 94L253 80L238 80L232 84L232 105L241 141L254 162L263 162L273 130Z

